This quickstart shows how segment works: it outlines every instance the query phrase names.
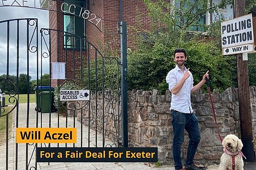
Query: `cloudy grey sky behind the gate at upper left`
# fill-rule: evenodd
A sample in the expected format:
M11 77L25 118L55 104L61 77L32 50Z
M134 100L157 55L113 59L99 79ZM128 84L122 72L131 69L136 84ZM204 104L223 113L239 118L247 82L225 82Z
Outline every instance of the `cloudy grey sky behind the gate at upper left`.
M16 18L37 18L38 19L38 56L41 58L41 47L40 47L40 28L49 28L49 11L25 7L14 7L14 6L3 6L3 2L6 4L12 4L13 2L22 4L22 2L34 3L36 1L36 7L39 7L39 0L7 0L0 1L0 21ZM29 5L30 6L30 5ZM32 22L31 22L32 24ZM30 27L34 28L34 27ZM19 22L19 74L27 74L27 40L26 40L26 22ZM10 50L9 50L9 75L16 76L16 67L17 67L17 22L10 22ZM30 37L32 37L33 29L30 31ZM36 45L35 38L31 42L32 46ZM32 51L35 48L32 48ZM43 47L43 51L46 48ZM36 79L36 53L29 54L29 75L32 77L32 80ZM39 68L40 72L40 68ZM49 59L44 58L42 62L42 74L49 74ZM0 23L0 76L7 74L7 22ZM40 76L39 76L40 77Z

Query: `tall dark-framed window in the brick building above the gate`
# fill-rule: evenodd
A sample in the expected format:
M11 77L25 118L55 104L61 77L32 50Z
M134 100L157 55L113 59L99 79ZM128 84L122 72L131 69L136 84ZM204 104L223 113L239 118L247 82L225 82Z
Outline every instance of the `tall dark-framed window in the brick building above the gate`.
M64 47L77 50L80 50L80 48L85 49L86 23L83 18L79 17L80 9L70 7L70 5L74 4L84 8L84 1L64 0L63 2L68 4L63 6L63 11L68 11L67 13L63 13L63 31L67 32L64 33ZM75 15L69 14L69 12Z

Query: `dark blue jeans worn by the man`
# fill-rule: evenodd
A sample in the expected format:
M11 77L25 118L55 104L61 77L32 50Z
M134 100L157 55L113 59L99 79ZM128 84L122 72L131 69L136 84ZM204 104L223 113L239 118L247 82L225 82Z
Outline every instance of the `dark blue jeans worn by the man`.
M181 113L172 110L173 117L173 157L175 169L181 169L181 145L184 142L184 129L188 132L189 143L185 164L194 163L194 156L197 151L201 136L198 127L198 118L194 113Z

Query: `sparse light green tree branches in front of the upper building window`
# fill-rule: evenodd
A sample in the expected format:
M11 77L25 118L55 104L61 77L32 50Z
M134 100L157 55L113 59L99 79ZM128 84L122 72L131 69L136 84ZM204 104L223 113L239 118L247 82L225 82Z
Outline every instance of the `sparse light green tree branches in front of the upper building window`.
M174 3L169 1L143 0L153 21L153 32L159 31L159 27L164 27L170 32L173 41L186 41L187 33L208 31L211 26L204 24L204 15L207 12L214 12L223 19L219 9L225 9L227 5L232 5L233 1L221 0L219 4L208 3L205 0L177 0Z

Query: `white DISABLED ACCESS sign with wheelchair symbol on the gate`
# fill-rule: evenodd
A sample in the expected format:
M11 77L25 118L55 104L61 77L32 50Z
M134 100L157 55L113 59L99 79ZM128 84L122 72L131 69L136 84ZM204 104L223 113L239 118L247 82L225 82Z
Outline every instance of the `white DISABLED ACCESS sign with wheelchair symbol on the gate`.
M60 101L89 101L90 90L60 90Z

